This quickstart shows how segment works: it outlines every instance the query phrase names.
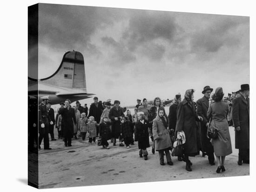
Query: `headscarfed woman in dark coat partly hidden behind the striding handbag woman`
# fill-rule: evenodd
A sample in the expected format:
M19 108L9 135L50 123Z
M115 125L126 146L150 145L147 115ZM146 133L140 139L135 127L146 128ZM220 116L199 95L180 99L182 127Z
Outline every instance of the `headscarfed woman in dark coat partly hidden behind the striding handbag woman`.
M174 99L173 99L173 104L170 106L169 108L169 115L168 115L168 119L169 119L169 129L172 131L175 131L176 128L176 122L177 122L177 108L178 108L178 104L182 101L182 97L181 94L178 93L177 95L175 95ZM175 132L176 133L176 132ZM176 135L175 138L176 139ZM178 160L182 161L182 157L178 156Z

